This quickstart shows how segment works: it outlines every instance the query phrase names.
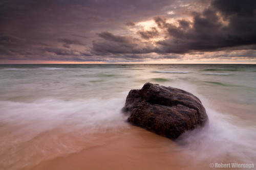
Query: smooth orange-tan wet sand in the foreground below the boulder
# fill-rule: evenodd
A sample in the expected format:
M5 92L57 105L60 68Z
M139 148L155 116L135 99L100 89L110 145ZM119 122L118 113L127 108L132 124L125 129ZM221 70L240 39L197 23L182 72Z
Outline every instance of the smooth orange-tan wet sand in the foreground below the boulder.
M94 134L94 139L81 152L26 169L210 169L209 162L196 162L178 150L177 142L136 126Z

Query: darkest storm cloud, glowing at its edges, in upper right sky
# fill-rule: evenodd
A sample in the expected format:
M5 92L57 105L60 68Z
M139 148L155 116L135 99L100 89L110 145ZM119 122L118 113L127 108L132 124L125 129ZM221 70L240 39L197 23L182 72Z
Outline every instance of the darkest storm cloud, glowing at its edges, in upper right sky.
M178 26L163 16L155 17L169 36L158 42L159 52L184 54L256 44L255 6L256 1L213 1L202 13L193 14L193 23L179 20Z

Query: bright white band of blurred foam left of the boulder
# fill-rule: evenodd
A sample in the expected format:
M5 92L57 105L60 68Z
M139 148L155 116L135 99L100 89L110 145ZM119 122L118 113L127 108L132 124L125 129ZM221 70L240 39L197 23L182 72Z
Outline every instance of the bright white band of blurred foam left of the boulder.
M1 101L2 109L0 119L12 125L36 126L42 125L42 129L52 129L62 126L63 121L78 126L78 122L86 133L104 128L114 128L120 124L116 120L124 120L120 110L124 100L112 99L108 101L76 100L62 101L56 99L41 99L33 103L18 103ZM119 104L119 105L118 105ZM104 123L103 123L104 122ZM46 127L45 124L48 126ZM33 129L29 127L29 129ZM28 129L28 130L29 130Z

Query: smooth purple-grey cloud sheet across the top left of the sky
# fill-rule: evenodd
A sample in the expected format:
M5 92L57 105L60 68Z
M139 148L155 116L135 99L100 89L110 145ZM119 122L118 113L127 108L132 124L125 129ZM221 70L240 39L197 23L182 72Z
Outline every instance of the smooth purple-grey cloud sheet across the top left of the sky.
M124 20L134 18L134 21L139 21L145 17L165 13L162 9L172 4L166 0L154 3L151 0L9 0L0 3L0 31L9 34L15 32L16 36L22 32L39 32L48 37L53 36L52 32L56 36L65 32L80 34L92 30L118 28ZM111 25L110 20L115 20L115 24Z

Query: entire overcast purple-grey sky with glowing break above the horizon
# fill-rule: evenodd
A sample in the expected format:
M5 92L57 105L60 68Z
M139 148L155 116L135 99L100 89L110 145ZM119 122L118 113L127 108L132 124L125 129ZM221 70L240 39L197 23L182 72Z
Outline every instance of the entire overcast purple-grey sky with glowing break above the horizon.
M255 0L1 0L0 63L256 62Z

